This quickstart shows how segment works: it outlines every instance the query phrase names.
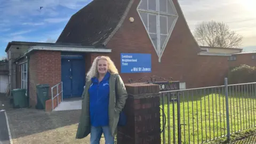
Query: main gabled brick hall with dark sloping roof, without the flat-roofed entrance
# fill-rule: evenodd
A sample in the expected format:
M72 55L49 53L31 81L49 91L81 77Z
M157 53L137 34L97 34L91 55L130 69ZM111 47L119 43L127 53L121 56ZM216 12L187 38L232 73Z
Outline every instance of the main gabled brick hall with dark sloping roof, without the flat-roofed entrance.
M222 84L228 67L225 56L230 54L201 52L178 1L163 2L158 15L158 5L147 1L93 1L70 18L57 42L105 46L119 70L120 53L150 53L151 73L121 73L124 82L157 75L171 76L187 87ZM90 53L89 59L98 55Z

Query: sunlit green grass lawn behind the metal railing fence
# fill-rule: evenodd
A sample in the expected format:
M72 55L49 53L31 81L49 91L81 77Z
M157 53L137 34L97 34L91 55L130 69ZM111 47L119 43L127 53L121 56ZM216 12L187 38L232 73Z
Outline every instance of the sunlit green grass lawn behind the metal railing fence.
M236 133L253 127L255 125L254 114L256 114L256 93L253 91L252 86L250 87L249 85L249 88L247 86L243 87L243 91L242 88L235 90L234 86L234 90L233 87L230 87L228 92L230 133ZM167 94L164 95L164 113L166 116L165 142L168 143L168 138L170 137L170 142L173 143L173 133L175 133L175 143L178 143L177 102L173 103L170 101L168 108L167 97ZM177 98L177 96L172 94L169 97L170 99ZM162 100L160 100L160 103L162 103ZM162 105L160 107L162 108ZM175 116L175 124L173 123L173 114ZM225 137L227 134L227 116L224 87L223 89L213 88L181 92L180 119L182 143L204 143ZM163 126L162 110L161 126Z

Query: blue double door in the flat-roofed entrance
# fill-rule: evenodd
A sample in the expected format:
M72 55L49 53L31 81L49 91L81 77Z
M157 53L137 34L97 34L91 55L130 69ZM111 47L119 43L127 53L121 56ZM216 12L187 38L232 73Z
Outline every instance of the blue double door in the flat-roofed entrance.
M63 99L81 97L85 85L85 61L77 58L61 59Z

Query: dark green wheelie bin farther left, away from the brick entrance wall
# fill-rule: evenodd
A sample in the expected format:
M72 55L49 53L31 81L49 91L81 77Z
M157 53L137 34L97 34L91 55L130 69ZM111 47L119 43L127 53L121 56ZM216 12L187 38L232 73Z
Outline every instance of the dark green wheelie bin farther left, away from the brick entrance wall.
M13 108L26 108L28 107L28 97L26 89L14 89L11 91L13 97Z

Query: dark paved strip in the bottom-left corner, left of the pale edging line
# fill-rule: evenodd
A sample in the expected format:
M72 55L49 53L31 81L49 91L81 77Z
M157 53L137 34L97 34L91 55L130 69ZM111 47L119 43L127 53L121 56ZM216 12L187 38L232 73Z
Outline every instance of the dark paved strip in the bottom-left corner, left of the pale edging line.
M0 110L0 143L9 144L9 131L6 123L5 110Z

